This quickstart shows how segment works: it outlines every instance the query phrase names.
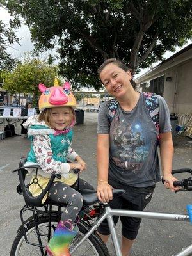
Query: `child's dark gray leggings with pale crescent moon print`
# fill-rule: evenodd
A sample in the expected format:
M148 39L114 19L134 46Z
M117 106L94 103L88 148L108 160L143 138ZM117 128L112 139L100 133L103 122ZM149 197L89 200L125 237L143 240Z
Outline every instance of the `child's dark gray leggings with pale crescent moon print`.
M63 182L58 181L53 182L48 191L48 198L52 201L67 204L67 207L61 215L61 220L69 221L72 225L74 224L83 205L83 196L77 191L77 189L77 181L72 186L68 186ZM94 190L92 185L82 179L79 179L79 191L81 191L81 189Z

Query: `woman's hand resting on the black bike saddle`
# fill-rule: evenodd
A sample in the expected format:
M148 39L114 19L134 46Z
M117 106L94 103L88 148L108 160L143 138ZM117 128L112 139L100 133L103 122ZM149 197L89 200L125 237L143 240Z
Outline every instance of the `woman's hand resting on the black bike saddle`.
M99 181L97 184L97 197L100 202L109 202L113 199L113 187L107 181Z

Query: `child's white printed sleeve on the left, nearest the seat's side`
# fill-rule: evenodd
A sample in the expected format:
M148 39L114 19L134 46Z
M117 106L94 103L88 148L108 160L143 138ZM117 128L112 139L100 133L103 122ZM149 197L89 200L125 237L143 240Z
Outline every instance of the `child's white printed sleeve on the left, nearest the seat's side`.
M37 135L33 138L33 150L36 161L45 173L60 174L68 173L68 163L61 163L52 158L51 142L47 135Z

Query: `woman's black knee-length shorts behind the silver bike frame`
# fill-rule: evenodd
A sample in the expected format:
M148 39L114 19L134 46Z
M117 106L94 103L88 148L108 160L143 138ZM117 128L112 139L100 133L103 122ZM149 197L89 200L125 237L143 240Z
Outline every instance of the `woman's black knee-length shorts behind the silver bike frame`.
M109 184L115 189L124 189L126 191L121 197L113 198L113 200L109 202L110 207L113 209L133 211L143 211L150 202L154 188L156 187L156 185L154 185L145 188L136 188L125 186L124 184L119 184L111 180ZM119 216L113 216L115 225L118 222L118 218ZM134 240L140 228L141 218L121 216L120 220L122 222L122 236ZM108 221L104 220L97 228L97 231L102 235L109 235Z

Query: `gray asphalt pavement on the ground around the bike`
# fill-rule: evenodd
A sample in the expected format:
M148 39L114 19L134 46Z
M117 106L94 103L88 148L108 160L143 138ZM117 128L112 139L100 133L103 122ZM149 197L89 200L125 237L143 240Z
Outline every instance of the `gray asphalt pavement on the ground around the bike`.
M2 129L0 124L0 129ZM20 133L17 124L16 132ZM74 127L74 141L72 148L80 154L87 163L87 170L82 178L96 188L96 143L97 143L97 113L84 113L84 125ZM173 168L192 168L192 140L187 137L176 136ZM29 140L23 136L14 136L0 140L0 248L1 255L10 255L10 248L20 226L20 209L24 205L22 196L16 192L19 183L16 173L20 157L26 156L29 150ZM182 179L183 175L179 175ZM186 205L192 204L192 192L182 191L172 193L164 189L159 182L156 186L152 201L145 211L168 212L186 214ZM116 230L120 239L120 223ZM162 221L143 219L138 239L132 247L131 256L163 256L175 255L192 241L191 223L179 221ZM111 241L108 242L111 256L115 256ZM80 256L80 255L79 255Z

